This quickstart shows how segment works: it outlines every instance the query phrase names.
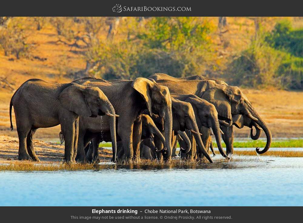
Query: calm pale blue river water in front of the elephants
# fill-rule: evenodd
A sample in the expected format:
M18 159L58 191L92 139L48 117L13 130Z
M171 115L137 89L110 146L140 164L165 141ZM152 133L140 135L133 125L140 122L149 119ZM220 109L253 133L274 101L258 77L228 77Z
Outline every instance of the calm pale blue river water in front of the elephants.
M303 158L243 158L192 168L0 172L0 206L303 205Z

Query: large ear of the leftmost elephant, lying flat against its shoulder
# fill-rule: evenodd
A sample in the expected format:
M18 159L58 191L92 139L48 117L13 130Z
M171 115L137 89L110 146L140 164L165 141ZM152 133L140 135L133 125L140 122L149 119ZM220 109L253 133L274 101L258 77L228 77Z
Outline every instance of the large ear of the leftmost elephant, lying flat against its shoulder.
M78 115L90 117L92 112L86 103L84 92L84 86L73 84L60 93L59 101L65 109Z

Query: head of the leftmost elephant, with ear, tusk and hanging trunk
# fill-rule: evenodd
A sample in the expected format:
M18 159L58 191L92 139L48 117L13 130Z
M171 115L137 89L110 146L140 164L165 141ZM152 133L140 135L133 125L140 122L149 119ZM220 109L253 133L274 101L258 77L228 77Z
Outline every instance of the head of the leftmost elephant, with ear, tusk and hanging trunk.
M116 117L114 107L109 102L108 98L98 87L83 86L72 84L65 88L58 99L62 106L81 116L97 117L98 115L108 115L112 117L110 122L111 137L113 139L113 161L116 159Z

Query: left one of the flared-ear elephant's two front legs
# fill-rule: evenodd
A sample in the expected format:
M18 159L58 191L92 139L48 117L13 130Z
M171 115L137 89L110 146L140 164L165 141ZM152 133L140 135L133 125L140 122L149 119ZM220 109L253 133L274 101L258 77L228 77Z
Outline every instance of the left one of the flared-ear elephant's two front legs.
M123 125L120 123L123 123ZM130 161L130 162L134 156L133 142L132 142L133 125L134 123L126 124L126 121L124 122L124 120L119 120L118 123L118 134L121 138L124 148L124 154L121 157L121 160Z

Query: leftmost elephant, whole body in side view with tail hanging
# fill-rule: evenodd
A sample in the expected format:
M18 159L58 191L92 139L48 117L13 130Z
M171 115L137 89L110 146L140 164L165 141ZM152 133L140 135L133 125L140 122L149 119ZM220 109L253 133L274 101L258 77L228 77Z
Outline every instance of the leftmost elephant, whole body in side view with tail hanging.
M11 98L9 116L12 125L12 106L16 117L19 138L19 160L39 161L32 138L38 128L61 124L65 139L64 157L67 163L75 162L78 141L79 116L95 119L107 115L110 119L113 151L116 151L115 110L105 94L97 87L76 83L50 83L42 79L29 79ZM115 161L115 156L113 157Z

